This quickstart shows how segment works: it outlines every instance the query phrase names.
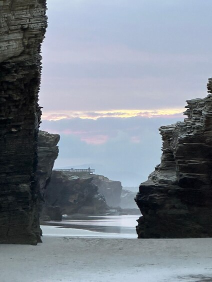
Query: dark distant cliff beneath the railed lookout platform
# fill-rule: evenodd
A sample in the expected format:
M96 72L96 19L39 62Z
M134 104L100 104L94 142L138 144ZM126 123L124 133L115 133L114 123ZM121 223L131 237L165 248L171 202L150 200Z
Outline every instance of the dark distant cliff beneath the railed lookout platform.
M108 210L104 197L92 183L92 178L52 171L45 193L44 213L51 220L61 220L62 214L98 215Z

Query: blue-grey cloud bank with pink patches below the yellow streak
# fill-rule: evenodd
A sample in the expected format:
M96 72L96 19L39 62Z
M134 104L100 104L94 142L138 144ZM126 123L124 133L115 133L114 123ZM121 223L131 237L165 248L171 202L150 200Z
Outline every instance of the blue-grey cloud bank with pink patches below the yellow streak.
M124 186L138 186L160 162L158 127L176 120L140 116L71 118L43 120L41 129L60 134L55 168L90 166Z

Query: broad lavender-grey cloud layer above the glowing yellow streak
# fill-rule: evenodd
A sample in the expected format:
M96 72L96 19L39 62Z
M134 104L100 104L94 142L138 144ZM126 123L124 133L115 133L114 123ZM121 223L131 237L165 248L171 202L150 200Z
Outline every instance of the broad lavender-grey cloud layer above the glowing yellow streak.
M210 0L51 0L46 111L183 107L211 72ZM59 21L58 21L59 18Z

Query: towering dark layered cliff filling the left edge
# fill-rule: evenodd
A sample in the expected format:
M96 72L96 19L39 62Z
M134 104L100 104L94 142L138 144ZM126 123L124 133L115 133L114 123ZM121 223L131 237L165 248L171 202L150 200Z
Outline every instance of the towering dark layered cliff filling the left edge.
M45 0L0 0L0 243L40 242L35 179Z

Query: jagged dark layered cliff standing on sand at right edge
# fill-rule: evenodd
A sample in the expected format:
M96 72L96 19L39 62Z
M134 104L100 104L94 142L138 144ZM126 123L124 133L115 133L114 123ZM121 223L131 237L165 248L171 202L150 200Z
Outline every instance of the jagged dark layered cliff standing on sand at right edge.
M212 79L203 99L187 101L187 118L160 127L161 163L140 184L138 238L212 236Z

